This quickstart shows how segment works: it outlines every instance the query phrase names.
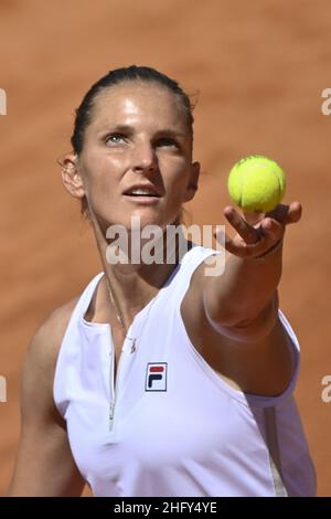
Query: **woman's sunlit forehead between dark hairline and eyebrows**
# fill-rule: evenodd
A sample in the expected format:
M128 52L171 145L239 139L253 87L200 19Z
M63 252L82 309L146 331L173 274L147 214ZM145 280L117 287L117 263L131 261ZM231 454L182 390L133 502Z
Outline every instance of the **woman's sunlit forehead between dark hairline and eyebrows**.
M95 98L90 126L146 125L186 130L188 116L179 97L162 85L126 82L104 88Z

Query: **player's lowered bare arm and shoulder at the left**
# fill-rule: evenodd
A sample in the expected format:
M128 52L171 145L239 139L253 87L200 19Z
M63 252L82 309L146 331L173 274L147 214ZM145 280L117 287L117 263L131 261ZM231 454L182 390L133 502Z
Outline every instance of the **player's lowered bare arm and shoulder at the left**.
M67 310L55 310L30 345L21 394L21 439L8 496L79 496L84 487L52 391Z

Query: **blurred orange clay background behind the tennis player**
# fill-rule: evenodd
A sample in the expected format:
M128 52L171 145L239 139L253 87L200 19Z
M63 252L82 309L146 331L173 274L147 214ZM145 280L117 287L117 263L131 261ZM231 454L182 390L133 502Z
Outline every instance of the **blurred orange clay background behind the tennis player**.
M330 19L328 0L0 0L0 494L18 446L29 341L100 271L56 158L71 149L74 109L90 84L139 64L200 92L194 158L205 173L186 206L193 222L225 223L227 173L250 153L276 159L288 174L285 201L302 202L301 222L287 230L280 307L301 343L296 395L319 495L331 495L331 402L321 399L331 375L331 116L321 112Z

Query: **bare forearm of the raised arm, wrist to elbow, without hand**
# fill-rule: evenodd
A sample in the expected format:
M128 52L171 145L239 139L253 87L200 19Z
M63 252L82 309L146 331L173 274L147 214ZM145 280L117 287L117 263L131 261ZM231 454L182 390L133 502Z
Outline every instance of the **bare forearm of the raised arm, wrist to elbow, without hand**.
M267 307L275 308L281 276L282 243L266 257L247 260L231 254L221 277L210 277L204 303L213 321L223 326L245 325Z

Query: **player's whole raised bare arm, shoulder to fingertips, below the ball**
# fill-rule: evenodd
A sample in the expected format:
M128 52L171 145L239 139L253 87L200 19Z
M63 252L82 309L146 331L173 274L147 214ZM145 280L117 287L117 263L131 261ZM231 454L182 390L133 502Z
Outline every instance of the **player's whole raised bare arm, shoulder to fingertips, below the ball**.
M204 268L196 269L181 306L184 325L199 352L232 385L278 395L295 368L291 341L278 314L282 239L286 225L300 219L301 205L278 205L257 223L231 208L225 215L237 231L225 240L225 272L206 277Z

